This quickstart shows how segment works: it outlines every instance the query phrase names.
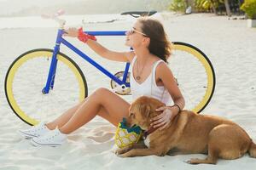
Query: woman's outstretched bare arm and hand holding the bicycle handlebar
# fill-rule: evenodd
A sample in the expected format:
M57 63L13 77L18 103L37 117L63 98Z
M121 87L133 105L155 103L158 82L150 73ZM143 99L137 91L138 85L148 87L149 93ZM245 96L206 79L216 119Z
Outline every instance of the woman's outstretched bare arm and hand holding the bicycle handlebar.
M78 37L79 30L77 28L69 28L65 30L64 36L68 37ZM87 45L105 59L115 60L115 61L122 61L122 62L131 62L133 57L135 56L134 52L115 52L111 51L108 48L103 47L100 43L88 39L86 41Z

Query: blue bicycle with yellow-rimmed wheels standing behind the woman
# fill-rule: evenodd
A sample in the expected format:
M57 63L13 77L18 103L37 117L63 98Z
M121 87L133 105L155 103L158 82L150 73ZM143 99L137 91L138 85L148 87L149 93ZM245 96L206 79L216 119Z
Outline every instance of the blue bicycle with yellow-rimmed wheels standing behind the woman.
M135 11L123 14L131 14L137 17L141 15L149 16L155 13L156 11ZM103 68L102 65L96 63L95 60L62 37L65 20L61 20L59 15L61 14L55 14L53 17L60 24L55 48L32 49L20 54L9 66L5 77L5 95L9 106L16 116L29 125L35 125L38 121L50 117L52 119L53 116L56 116L56 112L61 113L61 110L66 110L88 95L84 73L73 59L61 53L61 44L66 45L79 57L87 60L109 77L111 88L115 93L120 95L131 94L129 83L130 63L125 64L125 71L119 71L115 74ZM125 31L85 32L94 36L125 36ZM215 88L215 73L212 63L199 48L185 42L172 43L174 52L168 60L168 65L172 68L177 85L186 100L186 109L200 113L212 99ZM192 84L188 82L192 82ZM70 95L63 96L63 91L68 91ZM26 93L26 95L22 93ZM29 96L29 99L25 99L26 96ZM66 107L60 105L63 103ZM69 105L69 103L72 104ZM30 107L28 108L27 105Z

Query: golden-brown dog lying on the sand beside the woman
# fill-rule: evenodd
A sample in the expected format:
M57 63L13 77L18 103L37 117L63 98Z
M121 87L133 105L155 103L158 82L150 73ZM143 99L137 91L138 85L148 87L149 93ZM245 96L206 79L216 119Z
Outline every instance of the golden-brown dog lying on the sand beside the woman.
M256 144L235 122L222 117L198 115L192 111L181 111L163 130L150 127L150 119L161 111L164 104L157 99L140 97L129 109L128 126L137 124L143 133L144 144L134 144L116 150L121 157L165 156L177 154L207 154L206 159L190 159L191 164L216 164L218 158L236 159L245 153L256 157ZM145 146L147 145L147 147Z

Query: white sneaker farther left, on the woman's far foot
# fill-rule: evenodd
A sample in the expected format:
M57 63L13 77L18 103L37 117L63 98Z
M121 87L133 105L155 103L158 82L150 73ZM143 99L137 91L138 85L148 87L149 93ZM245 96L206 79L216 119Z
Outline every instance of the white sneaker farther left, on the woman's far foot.
M18 133L20 133L20 135L25 137L26 139L32 139L34 137L42 136L45 133L49 133L49 131L49 128L45 126L44 122L41 122L38 125L33 126L29 129L18 130Z

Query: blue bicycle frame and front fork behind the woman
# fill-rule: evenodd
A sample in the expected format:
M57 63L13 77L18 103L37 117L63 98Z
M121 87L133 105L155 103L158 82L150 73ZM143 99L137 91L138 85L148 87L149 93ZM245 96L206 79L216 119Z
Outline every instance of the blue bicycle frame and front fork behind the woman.
M90 35L93 35L93 36L125 36L125 31L85 31L85 32ZM125 87L130 87L130 83L125 82L127 75L128 75L130 63L126 63L123 80L119 80L118 77L115 77L112 73L110 73L105 68L103 68L102 65L99 65L98 63L96 63L96 61L94 61L93 59L90 59L90 57L88 55L84 54L78 48L74 47L70 42L67 42L67 40L65 40L62 37L63 33L64 33L64 31L62 29L58 30L58 34L57 34L57 38L56 38L56 42L55 42L55 48L54 48L53 56L51 59L51 64L49 67L49 75L47 78L46 85L42 91L43 94L48 94L49 89L54 88L55 71L56 71L57 62L58 62L58 59L56 56L60 52L61 43L66 45L67 48L70 48L76 54L79 54L80 57L87 60L91 65L94 65L98 70L102 71L103 74L105 74L109 78L113 79L114 82L117 82L119 85L125 85Z

